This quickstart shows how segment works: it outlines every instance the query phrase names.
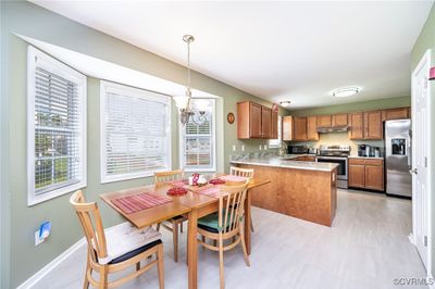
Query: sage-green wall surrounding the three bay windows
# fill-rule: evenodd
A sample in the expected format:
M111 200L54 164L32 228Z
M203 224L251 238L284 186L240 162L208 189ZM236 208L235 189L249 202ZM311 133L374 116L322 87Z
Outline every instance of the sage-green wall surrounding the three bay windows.
M27 206L26 186L26 49L27 43L14 34L28 36L59 47L88 54L174 83L184 84L186 68L120 39L113 38L29 2L1 2L1 288L14 288L70 248L82 231L69 204L70 194ZM232 146L256 151L266 140L237 140L236 124L226 114L236 114L236 103L252 100L271 105L244 91L206 75L194 73L192 87L221 97L217 111L217 135L224 146L217 147L221 167L227 169ZM99 79L88 77L87 173L85 188L89 200L98 194L150 183L150 179L100 184L99 152ZM175 106L175 105L174 105ZM175 114L175 108L173 112ZM281 111L284 114L284 111ZM174 116L175 117L175 116ZM236 115L237 117L237 115ZM173 120L173 164L178 163L177 125ZM100 201L99 201L100 202ZM101 202L100 202L101 203ZM121 217L101 203L105 226ZM44 221L52 222L52 234L42 244L34 246L34 231ZM12 221L12 222L11 222Z

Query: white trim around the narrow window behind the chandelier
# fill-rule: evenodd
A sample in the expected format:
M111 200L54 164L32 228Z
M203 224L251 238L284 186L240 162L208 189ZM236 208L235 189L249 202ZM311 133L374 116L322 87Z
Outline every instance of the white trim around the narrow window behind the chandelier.
M207 99L213 101L213 111L212 111L212 141L213 141L213 166L210 168L195 168L195 167L184 167L184 160L183 160L183 148L184 148L184 138L183 136L183 124L178 122L178 156L179 156L179 167L182 167L185 172L203 172L203 173L215 173L216 172L216 100L212 98L195 98L195 99ZM178 118L179 120L179 111L178 111Z

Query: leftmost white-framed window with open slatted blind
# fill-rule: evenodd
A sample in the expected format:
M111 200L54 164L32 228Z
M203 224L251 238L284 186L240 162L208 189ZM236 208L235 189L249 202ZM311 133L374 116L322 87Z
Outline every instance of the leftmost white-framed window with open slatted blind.
M28 203L86 186L86 76L28 49Z

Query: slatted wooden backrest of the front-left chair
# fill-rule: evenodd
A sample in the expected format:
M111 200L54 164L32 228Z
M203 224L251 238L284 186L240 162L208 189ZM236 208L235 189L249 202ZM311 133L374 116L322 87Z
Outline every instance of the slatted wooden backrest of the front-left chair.
M102 259L108 255L104 228L98 205L96 202L86 203L80 190L71 197L70 203L73 205L84 230L90 256L94 262L98 262L97 257Z

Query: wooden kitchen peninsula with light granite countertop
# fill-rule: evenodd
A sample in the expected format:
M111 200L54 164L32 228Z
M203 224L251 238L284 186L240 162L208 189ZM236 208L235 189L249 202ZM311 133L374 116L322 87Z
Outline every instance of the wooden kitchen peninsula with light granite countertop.
M243 158L231 163L253 168L272 181L252 189L252 205L331 226L337 208L337 164L297 161L300 155Z

